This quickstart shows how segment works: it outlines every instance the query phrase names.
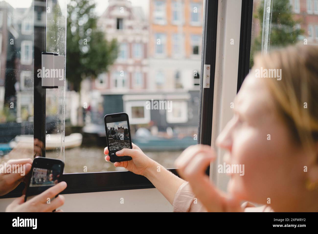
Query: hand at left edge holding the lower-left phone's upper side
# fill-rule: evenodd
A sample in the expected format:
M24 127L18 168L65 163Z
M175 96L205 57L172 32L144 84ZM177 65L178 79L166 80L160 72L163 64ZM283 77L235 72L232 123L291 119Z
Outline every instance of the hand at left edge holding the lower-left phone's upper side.
M7 162L7 166L11 165L12 169L16 169L15 171L11 171L11 173L6 173L7 168L3 168L4 173L0 173L0 196L5 195L17 188L17 186L21 182L26 182L26 175L30 172L32 167L31 159L18 159L18 160L9 160ZM20 166L22 165L22 168ZM25 171L24 170L25 165ZM21 175L23 174L23 175Z

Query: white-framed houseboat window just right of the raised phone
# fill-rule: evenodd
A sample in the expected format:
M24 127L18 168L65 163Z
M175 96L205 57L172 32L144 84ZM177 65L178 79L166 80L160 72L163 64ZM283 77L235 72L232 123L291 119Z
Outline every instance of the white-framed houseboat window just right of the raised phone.
M150 122L150 110L146 108L146 101L128 101L125 103L125 111L129 116L129 124Z

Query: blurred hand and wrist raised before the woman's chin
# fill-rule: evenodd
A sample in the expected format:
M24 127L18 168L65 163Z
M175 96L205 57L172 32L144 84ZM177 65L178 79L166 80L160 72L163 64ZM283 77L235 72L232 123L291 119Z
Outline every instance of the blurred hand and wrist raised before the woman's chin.
M192 145L176 159L179 175L189 181L193 193L209 212L241 212L240 202L215 188L205 174L215 152L208 145Z

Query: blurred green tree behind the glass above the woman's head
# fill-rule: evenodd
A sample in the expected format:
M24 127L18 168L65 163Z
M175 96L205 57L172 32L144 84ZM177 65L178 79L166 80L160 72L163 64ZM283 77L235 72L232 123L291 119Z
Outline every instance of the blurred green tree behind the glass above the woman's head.
M304 31L295 27L300 21L294 20L294 14L289 0L272 1L271 9L265 9L265 11L271 11L269 48L285 47L289 44L296 43L300 39ZM263 17L264 0L259 4L257 14L254 14L254 18L259 19L261 29L263 28ZM262 33L259 33L252 45L250 68L254 63L253 55L261 50L261 46Z

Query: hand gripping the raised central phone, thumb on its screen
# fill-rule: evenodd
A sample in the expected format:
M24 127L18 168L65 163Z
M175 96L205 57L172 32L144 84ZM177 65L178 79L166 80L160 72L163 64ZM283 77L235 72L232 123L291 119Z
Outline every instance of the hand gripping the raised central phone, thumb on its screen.
M146 169L150 168L155 164L155 161L148 158L142 150L135 144L132 144L132 149L124 148L116 152L117 156L130 156L133 159L124 162L115 162L115 167L125 167L128 171L131 171L138 175L145 175ZM105 160L109 162L110 157L108 155L108 148L104 149L104 154L106 154Z

